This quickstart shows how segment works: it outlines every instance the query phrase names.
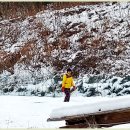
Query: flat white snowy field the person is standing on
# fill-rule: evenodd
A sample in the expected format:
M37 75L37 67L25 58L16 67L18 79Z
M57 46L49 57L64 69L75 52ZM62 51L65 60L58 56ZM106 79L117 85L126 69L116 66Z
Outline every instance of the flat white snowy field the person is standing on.
M130 99L130 96L125 97ZM0 96L0 128L58 128L64 126L65 121L47 122L54 109L108 101L110 98L73 96L70 102L63 100L64 97ZM112 128L130 128L130 124Z

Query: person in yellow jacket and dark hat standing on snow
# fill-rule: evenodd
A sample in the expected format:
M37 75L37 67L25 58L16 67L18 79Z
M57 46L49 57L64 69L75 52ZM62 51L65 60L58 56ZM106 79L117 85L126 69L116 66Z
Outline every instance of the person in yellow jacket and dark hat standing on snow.
M76 89L76 87L75 87L75 84L74 84L74 81L73 81L72 71L69 68L69 69L67 69L67 73L63 75L63 80L62 80L62 92L65 93L64 102L69 102L70 94L75 89Z

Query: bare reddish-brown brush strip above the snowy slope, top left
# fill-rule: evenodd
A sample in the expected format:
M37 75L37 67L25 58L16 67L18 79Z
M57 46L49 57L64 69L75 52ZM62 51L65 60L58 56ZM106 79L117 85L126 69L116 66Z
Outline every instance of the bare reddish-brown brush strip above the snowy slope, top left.
M57 10L79 5L94 5L100 3L101 2L2 2L0 3L0 17L3 19L17 19L21 17L24 19L27 16L33 16L39 11L44 11L50 7ZM79 10L77 13L82 11L83 10Z

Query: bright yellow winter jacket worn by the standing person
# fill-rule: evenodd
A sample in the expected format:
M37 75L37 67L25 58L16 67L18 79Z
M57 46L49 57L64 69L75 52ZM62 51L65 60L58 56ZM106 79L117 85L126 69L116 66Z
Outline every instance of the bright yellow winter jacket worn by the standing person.
M74 85L73 77L68 76L67 74L63 75L63 80L62 80L62 87L64 88L71 88Z

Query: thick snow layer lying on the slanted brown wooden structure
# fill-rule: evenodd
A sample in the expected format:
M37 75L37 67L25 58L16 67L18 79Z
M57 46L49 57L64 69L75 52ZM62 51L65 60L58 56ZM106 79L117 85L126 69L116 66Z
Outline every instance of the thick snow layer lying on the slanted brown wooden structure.
M86 102L86 104L79 104L71 107L64 107L53 110L51 113L51 118L61 118L67 116L77 116L84 114L92 114L92 113L102 113L112 110L119 110L130 108L130 97L129 96L120 96L115 98L104 99L103 101L96 102ZM80 111L79 111L80 110Z

